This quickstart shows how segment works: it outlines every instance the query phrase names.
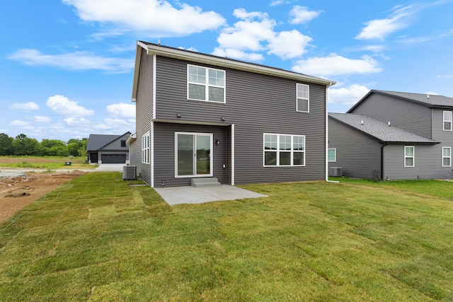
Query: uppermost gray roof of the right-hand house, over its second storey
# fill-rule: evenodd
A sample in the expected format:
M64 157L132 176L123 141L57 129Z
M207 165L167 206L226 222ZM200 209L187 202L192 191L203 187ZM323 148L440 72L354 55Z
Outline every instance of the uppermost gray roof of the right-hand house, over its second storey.
M359 100L355 105L348 110L352 112L357 105L360 105L363 100L365 100L368 95L372 93L379 93L382 95L389 95L394 98L399 98L401 100L408 100L413 103L419 103L430 108L451 108L453 109L453 98L449 98L443 95L427 94L427 93L407 93L407 92L397 92L397 91L379 91L372 90L367 93L361 100Z

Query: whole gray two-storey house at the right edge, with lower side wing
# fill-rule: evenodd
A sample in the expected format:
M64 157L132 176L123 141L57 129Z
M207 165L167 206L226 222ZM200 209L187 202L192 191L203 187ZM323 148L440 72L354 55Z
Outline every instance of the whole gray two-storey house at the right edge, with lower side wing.
M453 98L372 90L329 114L329 173L353 178L443 179L452 172Z

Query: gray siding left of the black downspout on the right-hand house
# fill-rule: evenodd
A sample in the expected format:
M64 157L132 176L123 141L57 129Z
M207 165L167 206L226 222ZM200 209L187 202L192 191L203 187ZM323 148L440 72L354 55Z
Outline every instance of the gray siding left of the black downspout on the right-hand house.
M374 178L381 171L382 144L345 124L329 118L328 148L336 149L336 162L328 168L342 168L343 176Z

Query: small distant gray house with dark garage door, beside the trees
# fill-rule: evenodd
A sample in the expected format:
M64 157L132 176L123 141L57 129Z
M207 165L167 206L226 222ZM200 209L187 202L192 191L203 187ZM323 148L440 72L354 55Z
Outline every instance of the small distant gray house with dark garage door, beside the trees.
M86 151L88 163L128 163L130 132L122 135L90 134Z

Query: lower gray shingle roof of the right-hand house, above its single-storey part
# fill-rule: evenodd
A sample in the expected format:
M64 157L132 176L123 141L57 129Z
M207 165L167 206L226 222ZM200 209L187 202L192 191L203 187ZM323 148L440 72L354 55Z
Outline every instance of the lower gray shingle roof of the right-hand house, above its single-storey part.
M413 134L398 127L376 120L367 115L355 115L352 113L329 113L329 117L348 125L357 131L367 134L385 143L416 143L416 144L439 144L420 135Z

